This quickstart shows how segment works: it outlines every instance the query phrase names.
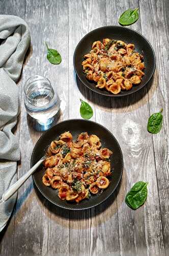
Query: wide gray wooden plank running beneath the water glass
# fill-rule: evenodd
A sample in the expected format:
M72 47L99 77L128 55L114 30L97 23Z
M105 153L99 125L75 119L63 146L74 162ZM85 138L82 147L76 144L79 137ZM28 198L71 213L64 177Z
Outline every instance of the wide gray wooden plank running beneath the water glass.
M25 21L30 27L31 50L23 69L23 84L32 75L40 74L58 89L62 99L62 118L68 113L68 8L67 1L27 1ZM63 61L61 65L51 65L46 59L44 41L58 49ZM64 109L63 109L64 108ZM27 119L22 93L20 147L21 165L19 177L30 167L33 147L41 135L33 129L33 123ZM69 215L60 208L46 202L33 189L29 178L18 191L16 205L14 255L54 255L69 253Z

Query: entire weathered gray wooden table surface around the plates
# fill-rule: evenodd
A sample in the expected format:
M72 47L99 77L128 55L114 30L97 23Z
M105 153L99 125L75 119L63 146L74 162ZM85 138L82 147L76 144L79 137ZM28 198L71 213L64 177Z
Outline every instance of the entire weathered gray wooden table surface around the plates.
M122 181L115 194L101 205L82 212L54 207L34 189L32 177L18 191L12 217L1 233L1 255L168 255L168 1L153 0L1 0L0 13L23 18L30 27L31 47L18 86L21 114L15 129L21 161L18 177L30 167L33 147L41 135L27 118L23 85L32 75L44 75L58 90L58 121L80 118L79 98L93 109L92 120L103 124L119 141L124 155ZM139 19L130 26L152 44L156 71L144 88L128 97L109 99L92 93L76 81L73 53L89 31L118 25L119 15L139 7ZM59 66L46 60L47 41L62 55ZM150 114L163 108L163 126L156 135L147 132ZM148 181L144 206L131 210L125 195L139 180Z

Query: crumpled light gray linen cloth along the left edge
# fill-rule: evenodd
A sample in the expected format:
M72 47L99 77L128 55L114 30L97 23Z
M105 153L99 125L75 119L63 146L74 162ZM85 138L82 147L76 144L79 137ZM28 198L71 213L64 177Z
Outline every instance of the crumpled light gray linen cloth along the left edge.
M0 231L13 210L17 194L7 202L2 195L17 180L20 159L17 138L12 128L19 114L18 80L25 53L30 45L30 32L23 19L0 15Z

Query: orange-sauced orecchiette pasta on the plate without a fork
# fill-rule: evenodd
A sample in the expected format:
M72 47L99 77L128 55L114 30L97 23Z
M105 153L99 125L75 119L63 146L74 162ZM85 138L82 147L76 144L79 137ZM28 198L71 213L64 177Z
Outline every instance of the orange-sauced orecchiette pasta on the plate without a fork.
M109 38L95 41L90 53L82 61L83 72L96 87L110 93L131 90L144 76L143 55L134 51L133 44Z

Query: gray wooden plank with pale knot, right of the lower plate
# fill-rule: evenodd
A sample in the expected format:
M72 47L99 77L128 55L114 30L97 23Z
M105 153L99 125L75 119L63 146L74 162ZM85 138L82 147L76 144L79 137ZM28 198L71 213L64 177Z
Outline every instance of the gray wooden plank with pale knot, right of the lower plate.
M118 25L120 14L128 8L136 7L138 1L119 1L114 5L111 1L106 1L107 25ZM144 13L131 28L142 32L140 21L146 20ZM118 190L117 197L121 254L162 255L163 237L153 141L147 132L149 115L147 89L132 97L113 99L111 106L113 109L111 129L122 146L126 176L125 187L120 188L121 193ZM149 182L149 194L146 204L132 211L125 204L124 198L138 180Z

